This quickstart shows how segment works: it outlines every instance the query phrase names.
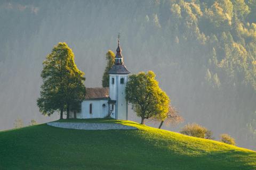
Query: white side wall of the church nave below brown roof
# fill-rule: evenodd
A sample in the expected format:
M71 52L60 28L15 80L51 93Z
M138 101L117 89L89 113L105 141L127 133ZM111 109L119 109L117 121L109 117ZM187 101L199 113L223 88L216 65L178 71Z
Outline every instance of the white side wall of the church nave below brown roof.
M92 114L90 114L92 104ZM105 104L105 107L103 106ZM82 118L103 118L108 115L108 100L84 100L82 102Z

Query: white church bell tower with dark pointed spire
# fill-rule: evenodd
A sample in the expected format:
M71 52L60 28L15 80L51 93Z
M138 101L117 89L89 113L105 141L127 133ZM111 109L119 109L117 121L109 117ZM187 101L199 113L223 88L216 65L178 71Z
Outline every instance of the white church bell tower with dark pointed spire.
M125 86L130 72L126 69L119 44L116 49L115 64L109 71L109 97L111 117L118 120L128 119L128 104L125 99Z

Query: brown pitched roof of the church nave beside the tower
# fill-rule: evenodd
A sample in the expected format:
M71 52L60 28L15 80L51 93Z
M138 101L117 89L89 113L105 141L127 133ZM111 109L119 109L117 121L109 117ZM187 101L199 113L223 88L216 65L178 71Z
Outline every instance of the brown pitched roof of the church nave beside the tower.
M85 100L109 99L108 87L86 88Z

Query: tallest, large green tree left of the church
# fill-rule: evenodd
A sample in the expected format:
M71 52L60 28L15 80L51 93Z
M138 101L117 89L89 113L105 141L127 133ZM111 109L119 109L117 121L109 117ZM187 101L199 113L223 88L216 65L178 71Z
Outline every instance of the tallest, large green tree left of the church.
M77 69L74 54L66 43L54 46L46 56L41 73L43 84L37 99L39 111L51 115L66 110L69 118L70 109L79 111L79 103L84 99L84 73Z

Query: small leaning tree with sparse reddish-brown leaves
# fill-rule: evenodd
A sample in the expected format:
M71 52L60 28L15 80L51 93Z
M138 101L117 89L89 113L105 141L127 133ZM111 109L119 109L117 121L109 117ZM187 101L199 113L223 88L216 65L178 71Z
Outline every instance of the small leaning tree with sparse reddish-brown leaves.
M178 123L183 122L183 117L178 115L178 113L179 112L176 111L173 106L169 105L169 110L167 113L157 114L154 117L154 120L161 121L158 129L161 129L164 122L166 124L172 124L172 125L177 125Z

